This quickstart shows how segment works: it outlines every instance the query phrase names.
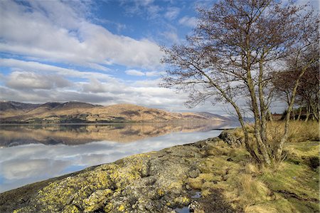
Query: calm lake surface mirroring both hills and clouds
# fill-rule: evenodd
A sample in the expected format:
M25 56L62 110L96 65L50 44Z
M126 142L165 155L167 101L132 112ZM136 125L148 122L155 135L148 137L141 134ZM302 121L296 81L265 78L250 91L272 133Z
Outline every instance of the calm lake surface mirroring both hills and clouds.
M1 125L0 192L114 162L122 157L218 136L237 123Z

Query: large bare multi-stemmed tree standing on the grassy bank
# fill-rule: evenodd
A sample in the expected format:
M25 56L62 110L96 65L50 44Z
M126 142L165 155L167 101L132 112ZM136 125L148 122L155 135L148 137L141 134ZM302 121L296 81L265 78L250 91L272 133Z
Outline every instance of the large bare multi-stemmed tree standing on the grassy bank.
M188 105L208 98L233 106L243 132L245 147L257 161L271 165L279 161L287 129L277 150L267 140L267 114L272 100L272 73L287 69L289 56L301 58L306 47L319 41L319 18L306 6L291 1L225 0L211 9L198 9L199 22L186 44L163 47L168 65L162 84L189 93ZM292 85L287 108L290 114L304 64ZM243 100L255 118L255 142L249 141Z

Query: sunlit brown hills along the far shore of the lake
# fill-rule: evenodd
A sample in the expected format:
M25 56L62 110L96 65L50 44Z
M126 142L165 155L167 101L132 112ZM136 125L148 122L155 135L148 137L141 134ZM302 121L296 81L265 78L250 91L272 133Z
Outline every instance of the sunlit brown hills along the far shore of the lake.
M82 102L16 103L0 110L0 123L142 123L179 120L230 121L212 113L169 113L132 104L92 105ZM23 108L23 109L21 109ZM2 109L2 108L1 108ZM8 113L9 112L9 113ZM14 113L16 112L16 113Z

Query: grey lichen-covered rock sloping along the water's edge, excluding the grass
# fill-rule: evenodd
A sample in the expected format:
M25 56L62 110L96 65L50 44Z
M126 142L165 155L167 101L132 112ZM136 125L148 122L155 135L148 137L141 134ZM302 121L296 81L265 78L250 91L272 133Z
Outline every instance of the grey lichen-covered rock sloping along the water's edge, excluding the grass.
M196 212L237 212L218 189L210 190L216 180L198 178L210 172L219 142L133 155L4 192L0 212L175 212L189 204ZM199 184L208 185L210 196L201 195Z

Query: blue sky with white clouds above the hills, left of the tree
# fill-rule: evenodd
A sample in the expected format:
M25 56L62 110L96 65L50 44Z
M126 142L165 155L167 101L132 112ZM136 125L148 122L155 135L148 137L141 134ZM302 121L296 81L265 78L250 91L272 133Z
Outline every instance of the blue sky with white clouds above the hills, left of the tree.
M0 100L132 103L223 115L226 105L189 109L186 93L159 87L165 73L159 46L183 43L197 24L196 8L214 3L0 1Z

